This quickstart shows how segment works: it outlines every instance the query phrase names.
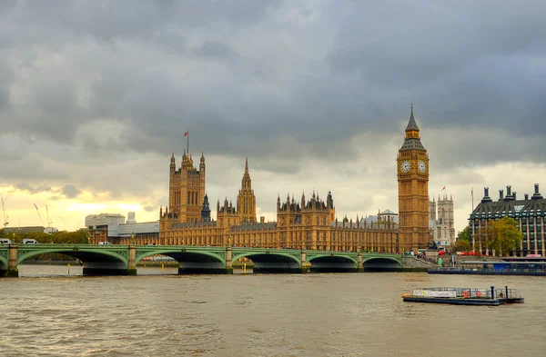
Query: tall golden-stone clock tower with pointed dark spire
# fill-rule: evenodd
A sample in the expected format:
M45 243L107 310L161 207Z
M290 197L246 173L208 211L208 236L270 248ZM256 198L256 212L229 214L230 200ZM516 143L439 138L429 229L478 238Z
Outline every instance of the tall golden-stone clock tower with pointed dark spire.
M413 117L398 154L399 248L406 252L426 248L429 234L429 154L420 142L420 132Z

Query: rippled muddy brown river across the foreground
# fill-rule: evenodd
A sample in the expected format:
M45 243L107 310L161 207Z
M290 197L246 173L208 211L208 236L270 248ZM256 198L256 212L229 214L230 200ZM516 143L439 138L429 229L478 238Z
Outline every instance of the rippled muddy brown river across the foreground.
M0 279L0 356L543 356L544 277L427 273ZM402 302L426 286L509 285L521 305Z

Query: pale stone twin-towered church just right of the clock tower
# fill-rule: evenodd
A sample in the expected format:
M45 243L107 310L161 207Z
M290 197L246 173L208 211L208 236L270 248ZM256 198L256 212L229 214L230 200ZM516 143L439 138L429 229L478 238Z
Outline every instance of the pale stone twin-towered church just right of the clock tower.
M432 201L429 201L429 227L432 240L439 248L455 244L452 196L448 199L447 194L445 194L441 199L440 195L438 195L438 203L434 197L432 197Z

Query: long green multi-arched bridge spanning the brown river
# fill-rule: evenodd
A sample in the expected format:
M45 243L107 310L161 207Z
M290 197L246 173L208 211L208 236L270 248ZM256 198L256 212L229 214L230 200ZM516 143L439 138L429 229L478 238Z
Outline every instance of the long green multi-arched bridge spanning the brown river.
M189 245L3 244L0 276L18 276L17 266L37 255L60 253L84 263L84 275L136 275L142 259L162 254L179 263L178 273L233 273L232 262L248 258L254 273L400 271L400 254L209 247Z

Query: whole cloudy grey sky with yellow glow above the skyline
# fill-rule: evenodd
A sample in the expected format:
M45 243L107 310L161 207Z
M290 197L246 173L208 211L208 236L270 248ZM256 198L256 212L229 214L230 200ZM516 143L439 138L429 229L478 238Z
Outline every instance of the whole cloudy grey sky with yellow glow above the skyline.
M258 216L331 191L339 219L398 212L410 103L430 195L460 231L489 186L546 193L546 2L0 2L0 192L9 226L158 218L168 164L207 160ZM216 211L216 210L213 210ZM216 212L213 213L216 215ZM46 224L46 223L45 223Z

